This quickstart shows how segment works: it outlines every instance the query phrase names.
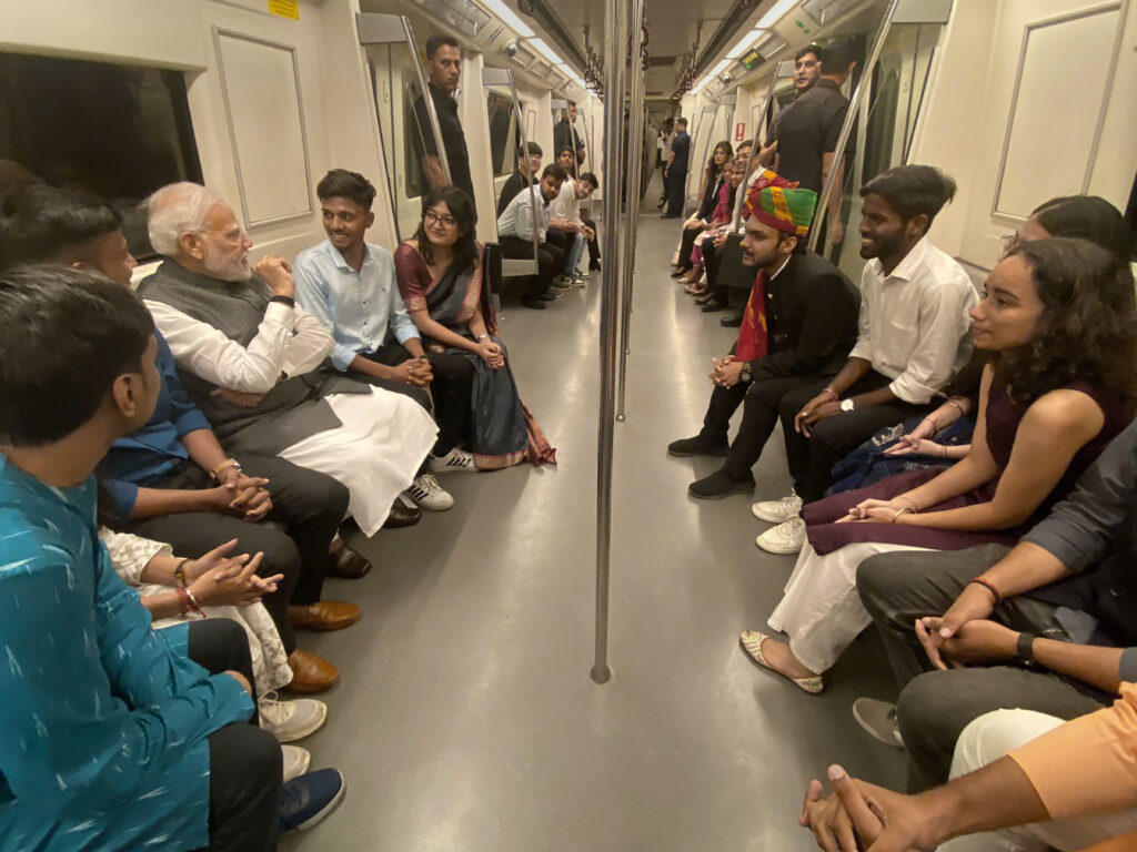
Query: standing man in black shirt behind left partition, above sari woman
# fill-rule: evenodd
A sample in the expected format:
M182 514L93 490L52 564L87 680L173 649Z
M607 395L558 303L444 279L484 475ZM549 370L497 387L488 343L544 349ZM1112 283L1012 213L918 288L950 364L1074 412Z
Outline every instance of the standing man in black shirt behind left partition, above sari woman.
M462 52L458 42L449 35L432 35L426 40L426 74L430 81L431 100L438 115L438 125L442 134L442 147L446 149L446 161L450 167L450 183L459 190L470 193L474 199L474 183L470 177L470 153L466 150L466 134L462 131L458 119L458 102L454 92L458 89L458 77L462 74ZM431 189L445 186L447 183L442 161L438 156L438 143L431 131L430 115L426 103L420 98L415 102L415 117L418 119L420 137L415 140L420 151L423 175ZM421 140L421 143L420 143ZM425 145L425 150L423 150Z

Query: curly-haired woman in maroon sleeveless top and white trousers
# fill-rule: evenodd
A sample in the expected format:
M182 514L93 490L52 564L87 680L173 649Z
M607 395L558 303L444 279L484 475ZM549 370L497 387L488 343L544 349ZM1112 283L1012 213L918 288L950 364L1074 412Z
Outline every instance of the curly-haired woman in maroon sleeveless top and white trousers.
M966 458L807 504L808 541L769 619L789 642L741 635L754 661L806 692L821 692L870 624L856 592L862 560L1013 544L1129 421L1137 312L1132 274L1114 254L1085 240L1022 243L991 270L971 317L991 362Z

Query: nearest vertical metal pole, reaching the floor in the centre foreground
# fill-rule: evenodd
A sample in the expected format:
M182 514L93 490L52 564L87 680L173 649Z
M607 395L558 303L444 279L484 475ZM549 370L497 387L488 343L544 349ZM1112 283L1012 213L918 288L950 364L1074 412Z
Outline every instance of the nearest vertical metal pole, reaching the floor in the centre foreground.
M605 0L604 55L604 253L620 251L620 130L624 114L624 51L628 0ZM620 265L605 264L600 293L600 423L596 453L596 659L592 679L605 684L608 668L608 560L612 556L612 441L616 408L616 319Z

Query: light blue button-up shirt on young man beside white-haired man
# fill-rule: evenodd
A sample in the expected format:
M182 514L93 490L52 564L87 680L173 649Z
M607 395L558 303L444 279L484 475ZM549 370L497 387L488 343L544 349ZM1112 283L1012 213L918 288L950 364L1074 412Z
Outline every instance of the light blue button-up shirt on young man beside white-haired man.
M330 358L338 370L346 370L357 354L382 346L389 326L399 343L420 336L399 295L391 252L364 245L359 272L329 240L305 249L292 262L296 300L335 339Z

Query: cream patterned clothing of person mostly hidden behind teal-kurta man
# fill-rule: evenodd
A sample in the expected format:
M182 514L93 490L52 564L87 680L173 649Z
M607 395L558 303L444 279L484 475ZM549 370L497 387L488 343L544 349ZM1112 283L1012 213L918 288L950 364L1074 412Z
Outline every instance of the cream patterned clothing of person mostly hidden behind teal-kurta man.
M153 583L142 583L142 569L158 554L171 554L168 544L142 538L128 533L114 533L106 527L99 529L99 537L107 545L110 563L123 582L138 588L143 598L151 594L163 594L172 591L168 586ZM210 618L227 618L244 628L249 637L249 651L252 654L252 676L257 680L257 692L264 695L279 690L292 679L292 669L288 665L288 654L281 644L280 634L273 624L268 610L263 603L250 607L206 607L202 610ZM153 628L172 627L188 621L186 618L163 618L153 623Z

